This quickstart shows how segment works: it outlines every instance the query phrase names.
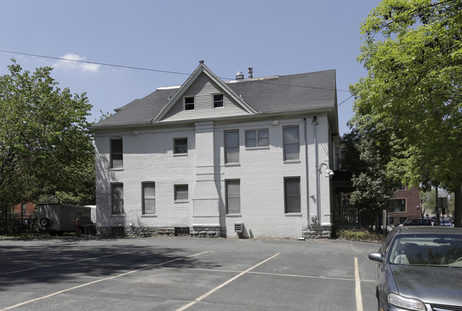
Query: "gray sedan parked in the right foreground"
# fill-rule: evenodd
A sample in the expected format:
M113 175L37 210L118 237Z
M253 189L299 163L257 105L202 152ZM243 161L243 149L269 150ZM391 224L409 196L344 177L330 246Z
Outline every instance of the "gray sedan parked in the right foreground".
M462 228L395 227L369 259L378 310L462 310Z

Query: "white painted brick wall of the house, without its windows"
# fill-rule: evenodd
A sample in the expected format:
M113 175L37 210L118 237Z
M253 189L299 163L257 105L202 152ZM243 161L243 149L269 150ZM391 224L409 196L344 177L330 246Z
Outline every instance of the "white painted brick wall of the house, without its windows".
M328 164L329 132L327 118L317 115L318 162ZM270 125L269 120L225 124L215 122L213 161L219 202L219 217L193 217L193 194L196 184L195 127L178 127L129 132L96 133L97 146L97 219L98 226L170 226L185 227L203 223L226 227L227 237L237 237L234 223L244 223L246 237L297 238L308 223L310 214L316 214L316 167L313 144L312 116L306 116L308 140L308 195L306 186L306 162L303 134L303 117L279 120ZM284 163L282 128L299 125L300 161ZM246 149L245 130L269 129L269 147ZM224 163L224 131L240 130L240 164ZM109 169L109 138L122 137L124 168ZM173 155L173 138L188 137L188 155ZM199 152L200 154L200 152ZM210 159L208 159L209 161ZM321 224L331 223L330 179L325 177L326 165L319 176ZM200 168L198 168L200 170ZM199 171L198 171L199 172ZM301 213L284 214L284 177L299 176L301 181ZM225 180L240 179L241 214L225 215ZM156 216L141 215L141 182L156 183ZM124 184L124 215L111 216L110 184ZM188 184L188 202L173 201L173 185ZM212 189L212 191L215 191ZM307 200L308 198L308 200ZM309 214L308 214L309 206Z

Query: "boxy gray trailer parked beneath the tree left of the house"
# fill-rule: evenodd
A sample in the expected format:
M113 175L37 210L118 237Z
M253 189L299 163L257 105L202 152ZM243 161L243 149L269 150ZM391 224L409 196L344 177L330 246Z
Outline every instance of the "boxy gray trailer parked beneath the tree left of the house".
M46 203L38 204L36 207L38 230L48 231L50 236L63 235L65 232L82 234L85 232L85 226L93 224L92 209L88 206Z

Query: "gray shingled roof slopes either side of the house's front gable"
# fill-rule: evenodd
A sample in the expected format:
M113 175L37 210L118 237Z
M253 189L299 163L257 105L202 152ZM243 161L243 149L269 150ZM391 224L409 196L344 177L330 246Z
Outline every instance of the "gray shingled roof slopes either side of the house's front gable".
M227 86L254 110L262 113L333 109L336 105L335 70L232 81ZM93 125L116 127L151 122L178 88L159 89L118 108L114 115Z

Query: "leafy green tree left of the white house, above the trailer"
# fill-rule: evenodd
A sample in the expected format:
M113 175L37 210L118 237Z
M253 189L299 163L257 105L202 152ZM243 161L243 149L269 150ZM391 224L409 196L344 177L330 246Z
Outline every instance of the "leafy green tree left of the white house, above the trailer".
M85 93L72 96L68 88L60 90L51 70L30 73L13 60L10 73L0 77L3 213L40 196L95 201L95 149L86 121L92 105Z

